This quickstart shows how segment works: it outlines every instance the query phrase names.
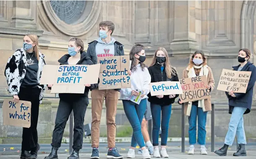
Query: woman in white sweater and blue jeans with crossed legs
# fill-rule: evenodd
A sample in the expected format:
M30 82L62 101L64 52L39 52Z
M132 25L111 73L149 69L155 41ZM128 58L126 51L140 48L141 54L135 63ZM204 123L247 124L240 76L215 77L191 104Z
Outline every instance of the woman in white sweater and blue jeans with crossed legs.
M151 76L146 65L143 63L146 59L144 46L141 44L134 45L130 51L131 60L131 88L122 88L120 99L123 100L123 109L132 128L133 136L131 148L128 151L127 158L135 158L135 147L138 143L142 150L142 159L150 159L149 151L145 147L143 135L141 133L141 122L146 111L146 98L149 93L149 83ZM132 96L141 94L139 104L131 101Z

